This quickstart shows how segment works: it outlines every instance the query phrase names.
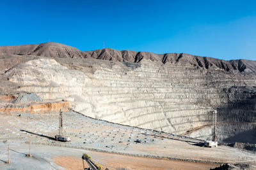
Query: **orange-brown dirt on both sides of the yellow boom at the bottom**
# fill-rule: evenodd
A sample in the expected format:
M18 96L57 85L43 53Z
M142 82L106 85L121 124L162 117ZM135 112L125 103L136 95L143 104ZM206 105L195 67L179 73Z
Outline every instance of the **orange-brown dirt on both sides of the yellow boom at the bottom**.
M103 167L110 167L110 169L119 169L120 167L125 169L211 169L216 167L215 164L200 164L193 162L181 162L174 160L161 160L161 159L149 159L143 157L131 157L124 155L108 154L95 152L92 153L95 157L102 157L100 159ZM83 169L83 162L81 159L72 157L54 157L54 163L65 167L70 170ZM88 167L88 164L84 163L84 167Z

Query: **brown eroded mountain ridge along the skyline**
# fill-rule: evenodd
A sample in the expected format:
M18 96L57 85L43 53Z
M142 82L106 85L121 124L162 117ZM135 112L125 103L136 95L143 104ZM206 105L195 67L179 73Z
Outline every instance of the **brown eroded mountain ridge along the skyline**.
M112 60L120 62L140 62L141 60L152 60L173 64L191 64L191 66L203 67L218 67L225 71L238 70L240 72L256 73L255 60L220 60L211 57L200 57L190 55L188 53L164 53L157 54L152 52L134 52L131 50L114 50L104 48L100 50L92 50L82 52L72 46L63 45L60 43L42 43L36 45L13 45L0 46L0 53L9 55L38 55L42 57L58 57L58 58L94 58L100 60Z

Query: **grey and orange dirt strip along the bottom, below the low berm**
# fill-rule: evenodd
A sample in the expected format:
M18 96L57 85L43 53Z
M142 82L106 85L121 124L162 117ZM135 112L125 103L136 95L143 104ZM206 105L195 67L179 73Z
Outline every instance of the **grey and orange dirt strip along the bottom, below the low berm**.
M13 143L10 145L10 148L11 164L2 165L0 169L22 169L28 166L28 162L29 165L33 166L35 169L41 169L42 166L44 166L45 169L83 169L83 161L81 159L83 153L87 153L93 160L102 165L102 167L108 167L109 169L210 169L211 167L218 166L215 164L131 157L113 153L39 145L31 145L33 157L29 158L25 156L28 153L28 145ZM2 143L0 149L6 151L6 144ZM6 152L1 152L0 159L6 160L6 158ZM86 163L84 165L88 167Z

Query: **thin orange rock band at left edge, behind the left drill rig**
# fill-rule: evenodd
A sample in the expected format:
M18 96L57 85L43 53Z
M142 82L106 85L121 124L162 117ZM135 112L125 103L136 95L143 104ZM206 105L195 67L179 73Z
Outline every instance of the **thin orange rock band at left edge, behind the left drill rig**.
M70 104L68 102L63 103L40 103L40 104L30 104L28 107L6 107L0 108L0 113L12 113L12 112L22 112L22 113L49 113L52 111L68 111Z

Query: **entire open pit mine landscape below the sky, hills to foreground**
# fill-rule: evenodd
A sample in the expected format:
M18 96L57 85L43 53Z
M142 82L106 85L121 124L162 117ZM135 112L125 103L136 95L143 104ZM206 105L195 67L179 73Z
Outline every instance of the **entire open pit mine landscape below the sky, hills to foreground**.
M256 168L255 60L0 46L0 82L0 169Z

